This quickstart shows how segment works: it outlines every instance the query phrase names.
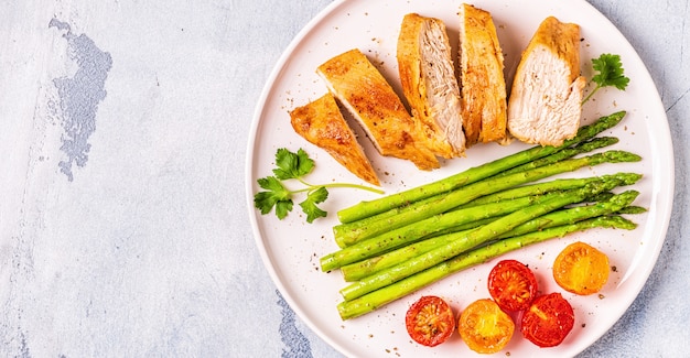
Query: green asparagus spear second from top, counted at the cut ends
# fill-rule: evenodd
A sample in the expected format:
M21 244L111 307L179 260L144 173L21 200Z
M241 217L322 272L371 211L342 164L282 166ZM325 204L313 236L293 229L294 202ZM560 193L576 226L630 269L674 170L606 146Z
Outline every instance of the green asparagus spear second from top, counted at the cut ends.
M346 247L355 241L375 237L433 215L445 213L487 194L500 192L556 174L572 172L583 166L593 166L601 163L636 162L639 160L640 158L638 155L629 152L607 151L579 159L570 159L502 177L488 178L449 192L431 202L423 200L421 204L411 204L400 209L397 215L378 221L367 223L366 225L362 225L362 221L344 224L341 226L339 230L337 230L335 240L337 242L342 241L342 243L338 245ZM322 262L330 260L331 258L326 257Z

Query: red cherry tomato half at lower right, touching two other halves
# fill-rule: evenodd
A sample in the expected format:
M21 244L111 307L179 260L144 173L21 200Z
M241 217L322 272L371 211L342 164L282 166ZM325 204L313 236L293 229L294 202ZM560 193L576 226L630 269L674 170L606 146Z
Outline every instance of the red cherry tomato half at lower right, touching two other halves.
M568 300L553 292L539 296L522 313L522 336L539 347L560 345L575 324L575 314Z

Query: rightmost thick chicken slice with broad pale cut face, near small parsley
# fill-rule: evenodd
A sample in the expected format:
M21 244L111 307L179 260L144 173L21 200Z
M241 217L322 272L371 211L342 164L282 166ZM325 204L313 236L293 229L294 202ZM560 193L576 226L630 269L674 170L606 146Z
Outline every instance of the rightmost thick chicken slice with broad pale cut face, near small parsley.
M517 139L560 145L575 135L586 80L580 76L580 26L549 17L522 53L508 100Z

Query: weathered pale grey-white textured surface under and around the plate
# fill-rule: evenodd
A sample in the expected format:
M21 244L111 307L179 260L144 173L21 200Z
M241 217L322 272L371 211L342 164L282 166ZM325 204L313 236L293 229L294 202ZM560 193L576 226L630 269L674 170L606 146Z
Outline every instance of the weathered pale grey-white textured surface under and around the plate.
M0 4L0 356L335 357L262 269L254 106L331 1ZM630 310L583 357L687 356L687 0L590 0L666 108L676 202Z

